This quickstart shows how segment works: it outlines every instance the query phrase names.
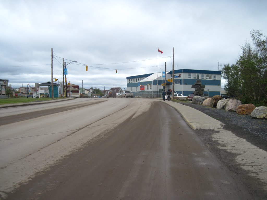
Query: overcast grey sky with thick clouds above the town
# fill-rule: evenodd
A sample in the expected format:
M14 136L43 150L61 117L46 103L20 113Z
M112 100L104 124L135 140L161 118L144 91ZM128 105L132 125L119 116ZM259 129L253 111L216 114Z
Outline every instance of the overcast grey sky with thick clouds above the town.
M51 81L51 48L53 77L63 79L62 58L77 61L67 65L67 82L85 88L124 89L126 77L164 71L165 62L170 71L173 47L175 70L218 70L235 63L251 30L267 34L266 7L266 0L0 0L0 79L15 88Z

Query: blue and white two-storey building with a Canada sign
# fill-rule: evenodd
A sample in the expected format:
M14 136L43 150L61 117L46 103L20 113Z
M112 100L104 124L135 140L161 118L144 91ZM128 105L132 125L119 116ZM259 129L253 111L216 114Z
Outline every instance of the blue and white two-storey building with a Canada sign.
M172 79L172 71L167 71L165 76L166 80ZM191 86L200 79L202 85L206 85L204 94L209 96L221 94L221 71L178 69L174 70L174 81L166 81L166 84L164 72L129 76L126 79L127 90L133 93L161 93L165 85L167 90L172 90L174 84L175 93L187 96L193 93L194 88Z

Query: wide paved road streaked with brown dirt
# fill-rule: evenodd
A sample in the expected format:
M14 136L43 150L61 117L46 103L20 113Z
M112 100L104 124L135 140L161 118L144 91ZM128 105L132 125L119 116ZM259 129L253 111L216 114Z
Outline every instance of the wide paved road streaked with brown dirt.
M0 109L1 199L252 199L157 99Z

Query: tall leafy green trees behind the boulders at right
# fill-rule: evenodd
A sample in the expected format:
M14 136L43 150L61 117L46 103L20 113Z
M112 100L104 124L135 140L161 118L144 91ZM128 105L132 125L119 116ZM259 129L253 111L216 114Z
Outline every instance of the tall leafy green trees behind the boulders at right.
M260 31L251 31L255 47L241 45L242 53L233 65L224 65L226 93L237 94L242 103L267 105L267 38Z

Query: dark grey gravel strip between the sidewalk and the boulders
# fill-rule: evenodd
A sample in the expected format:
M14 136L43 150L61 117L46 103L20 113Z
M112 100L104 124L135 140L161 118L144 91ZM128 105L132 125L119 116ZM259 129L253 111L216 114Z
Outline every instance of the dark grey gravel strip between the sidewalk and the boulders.
M193 104L191 101L178 103L193 107L217 119L224 124L224 129L231 131L236 136L244 138L253 145L267 151L267 120L254 119L250 115L239 115L236 112Z

